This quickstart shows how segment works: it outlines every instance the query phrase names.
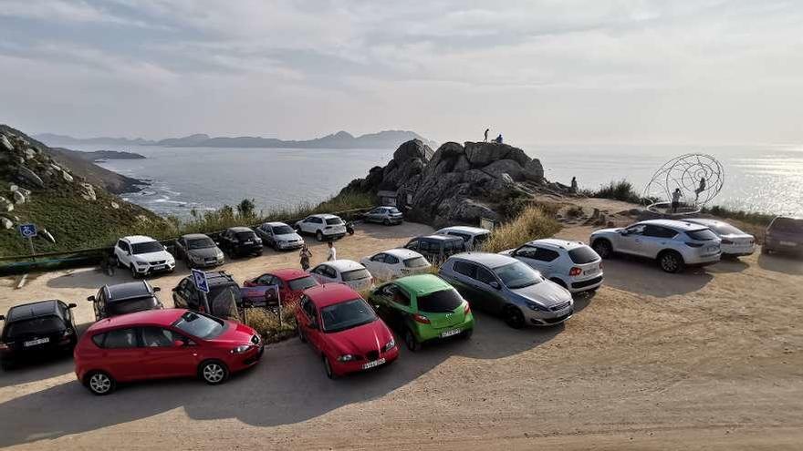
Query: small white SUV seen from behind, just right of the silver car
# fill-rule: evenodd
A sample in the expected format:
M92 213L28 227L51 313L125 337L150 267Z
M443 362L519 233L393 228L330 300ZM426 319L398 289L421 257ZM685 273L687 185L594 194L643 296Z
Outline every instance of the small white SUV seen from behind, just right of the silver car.
M593 292L602 284L602 259L580 241L535 240L499 253L524 261L569 292Z

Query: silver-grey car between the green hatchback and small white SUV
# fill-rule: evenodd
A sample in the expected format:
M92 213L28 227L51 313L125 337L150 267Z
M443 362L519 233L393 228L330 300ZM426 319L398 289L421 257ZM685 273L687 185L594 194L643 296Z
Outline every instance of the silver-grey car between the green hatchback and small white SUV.
M443 263L439 273L472 308L499 315L516 329L563 323L574 313L568 290L506 255L460 253Z

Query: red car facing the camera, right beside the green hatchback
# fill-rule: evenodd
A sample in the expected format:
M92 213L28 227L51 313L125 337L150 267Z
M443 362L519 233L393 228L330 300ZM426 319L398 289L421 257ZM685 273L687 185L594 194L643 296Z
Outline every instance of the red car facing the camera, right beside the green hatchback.
M342 283L305 291L296 323L299 338L320 355L330 379L391 364L399 357L391 329L359 292Z

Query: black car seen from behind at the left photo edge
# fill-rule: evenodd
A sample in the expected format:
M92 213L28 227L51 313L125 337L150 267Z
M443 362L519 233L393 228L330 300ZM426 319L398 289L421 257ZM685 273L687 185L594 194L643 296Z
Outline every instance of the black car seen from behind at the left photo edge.
M78 341L70 310L74 303L40 301L15 305L0 315L0 364L10 368L26 356L71 352Z

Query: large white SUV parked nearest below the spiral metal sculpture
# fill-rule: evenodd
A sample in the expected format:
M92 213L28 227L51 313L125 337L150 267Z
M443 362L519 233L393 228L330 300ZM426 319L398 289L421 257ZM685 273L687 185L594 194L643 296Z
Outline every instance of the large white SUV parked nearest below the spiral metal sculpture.
M591 233L590 241L603 259L626 253L658 261L665 272L714 264L722 256L713 231L683 220L642 220L626 228L602 229Z

